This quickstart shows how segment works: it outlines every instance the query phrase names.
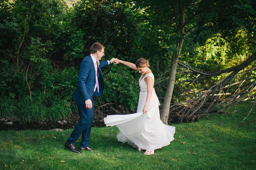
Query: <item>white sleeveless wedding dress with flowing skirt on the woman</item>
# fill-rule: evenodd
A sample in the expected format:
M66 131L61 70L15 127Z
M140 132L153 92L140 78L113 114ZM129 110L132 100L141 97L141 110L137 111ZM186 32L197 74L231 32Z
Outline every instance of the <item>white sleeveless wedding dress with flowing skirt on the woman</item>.
M150 76L154 81L152 73ZM141 88L137 113L128 115L109 115L104 118L106 126L117 126L120 132L117 139L120 142L128 142L134 148L139 150L155 150L170 144L174 140L175 127L165 125L160 120L159 101L156 92L153 89L148 112L143 114L143 107L146 103L147 84L144 78L139 79Z

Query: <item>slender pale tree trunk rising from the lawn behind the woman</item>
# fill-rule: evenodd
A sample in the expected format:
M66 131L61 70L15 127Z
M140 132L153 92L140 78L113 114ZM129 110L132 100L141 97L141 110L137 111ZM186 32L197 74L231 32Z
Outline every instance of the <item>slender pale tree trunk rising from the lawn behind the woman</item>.
M180 12L179 12L179 28L177 30L179 30L178 36L180 37L184 34L183 24L185 22L185 12L182 10L181 7L179 10L180 10ZM182 49L182 45L183 45L183 37L182 37L182 40L179 43L177 43L177 45L176 45L176 48L178 49L178 51L172 55L169 81L168 81L168 85L167 85L167 89L166 89L166 93L165 93L165 97L164 97L164 105L163 105L161 115L160 115L161 121L166 125L168 125L169 110L170 110L170 104L171 104L171 100L172 100L172 92L174 89L177 63L178 63L179 54Z

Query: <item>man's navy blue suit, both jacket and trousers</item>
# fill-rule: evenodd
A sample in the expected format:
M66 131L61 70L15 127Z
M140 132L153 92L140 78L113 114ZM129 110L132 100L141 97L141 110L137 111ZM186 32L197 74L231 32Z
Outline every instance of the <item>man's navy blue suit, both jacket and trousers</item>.
M99 83L99 92L96 88L94 93L94 88L96 84L96 74L95 67L92 60L92 57L89 55L83 59L80 64L77 88L73 94L73 98L76 101L78 107L78 113L80 116L80 121L71 133L67 142L69 144L75 144L80 135L82 134L82 140L80 142L80 147L86 148L89 147L89 139L92 128L93 121L93 111L94 103L92 96L100 96L104 90L104 79L102 75L101 68L108 65L108 61L100 62L100 65L97 68L97 76ZM91 99L92 109L87 109L85 105L85 100Z

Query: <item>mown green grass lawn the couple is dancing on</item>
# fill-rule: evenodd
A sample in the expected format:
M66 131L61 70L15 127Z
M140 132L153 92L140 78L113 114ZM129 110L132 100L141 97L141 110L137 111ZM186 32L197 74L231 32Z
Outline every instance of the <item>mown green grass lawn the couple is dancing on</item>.
M82 154L64 147L73 129L1 131L0 169L255 170L256 109L241 121L247 111L249 104L244 104L234 116L215 114L197 122L174 125L175 140L155 150L153 155L143 155L143 151L118 142L117 127L92 128L90 146L96 150Z

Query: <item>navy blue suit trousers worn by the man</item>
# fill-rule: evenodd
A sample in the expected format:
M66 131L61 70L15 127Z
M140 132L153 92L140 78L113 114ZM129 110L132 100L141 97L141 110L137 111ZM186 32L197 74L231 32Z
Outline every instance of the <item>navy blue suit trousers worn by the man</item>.
M89 139L90 133L92 129L92 122L93 122L93 111L94 111L94 104L93 98L92 101L92 108L88 109L84 104L80 104L76 102L78 113L80 116L80 121L77 123L77 126L71 133L70 137L68 138L67 142L69 144L75 144L80 135L82 134L82 139L80 142L80 147L86 148L89 147Z

